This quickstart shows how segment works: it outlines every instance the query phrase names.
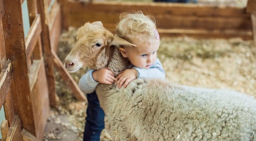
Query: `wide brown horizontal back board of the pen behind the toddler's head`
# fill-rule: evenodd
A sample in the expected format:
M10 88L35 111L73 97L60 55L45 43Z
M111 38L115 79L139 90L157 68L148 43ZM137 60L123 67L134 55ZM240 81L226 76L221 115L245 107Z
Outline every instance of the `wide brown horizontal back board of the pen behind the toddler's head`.
M254 1L254 0L253 0ZM123 12L142 11L146 15L156 18L157 28L166 30L198 30L200 31L238 31L237 33L250 32L250 14L245 8L236 7L212 7L195 4L174 3L138 3L138 2L92 2L60 1L63 14L62 27L80 27L85 22L102 21L104 26L108 25L114 29ZM111 29L111 30L112 30ZM195 32L196 33L196 32ZM205 34L204 38L216 37L215 34ZM183 35L181 33L180 35ZM191 34L188 34L191 35ZM220 37L240 37L235 34L219 34ZM243 39L251 39L251 36L241 36Z

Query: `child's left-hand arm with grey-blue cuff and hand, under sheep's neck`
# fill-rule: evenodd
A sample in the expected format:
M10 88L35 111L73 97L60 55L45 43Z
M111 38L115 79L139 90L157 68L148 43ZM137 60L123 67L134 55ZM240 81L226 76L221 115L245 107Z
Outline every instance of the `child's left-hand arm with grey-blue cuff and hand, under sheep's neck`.
M78 83L80 90L84 94L90 94L95 91L99 83L112 84L116 81L114 74L106 68L99 70L88 70Z

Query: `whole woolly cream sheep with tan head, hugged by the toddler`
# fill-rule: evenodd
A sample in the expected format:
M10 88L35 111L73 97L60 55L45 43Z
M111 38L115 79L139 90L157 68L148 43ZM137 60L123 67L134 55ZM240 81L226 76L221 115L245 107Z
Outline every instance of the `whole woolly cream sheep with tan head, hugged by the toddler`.
M65 67L69 72L108 67L117 75L130 66L120 45L134 46L100 21L87 22ZM96 93L113 140L256 140L256 100L237 91L135 79L126 88L98 84Z

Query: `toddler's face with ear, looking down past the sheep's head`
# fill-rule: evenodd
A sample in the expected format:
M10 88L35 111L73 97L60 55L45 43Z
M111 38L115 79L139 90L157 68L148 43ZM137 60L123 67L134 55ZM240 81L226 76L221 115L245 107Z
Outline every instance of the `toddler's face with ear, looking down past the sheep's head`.
M133 44L137 47L124 47L123 50L120 50L121 54L124 58L128 58L134 66L149 69L156 62L157 50L160 45L159 40L151 40L151 43L135 40Z

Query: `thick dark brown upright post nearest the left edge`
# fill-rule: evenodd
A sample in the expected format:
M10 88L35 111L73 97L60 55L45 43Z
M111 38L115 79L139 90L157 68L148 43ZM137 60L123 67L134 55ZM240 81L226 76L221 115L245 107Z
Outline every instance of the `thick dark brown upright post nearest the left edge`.
M11 84L15 114L23 127L35 134L34 116L30 96L28 65L21 3L4 0L3 17L6 55L12 61L13 81ZM10 16L11 15L11 16Z

